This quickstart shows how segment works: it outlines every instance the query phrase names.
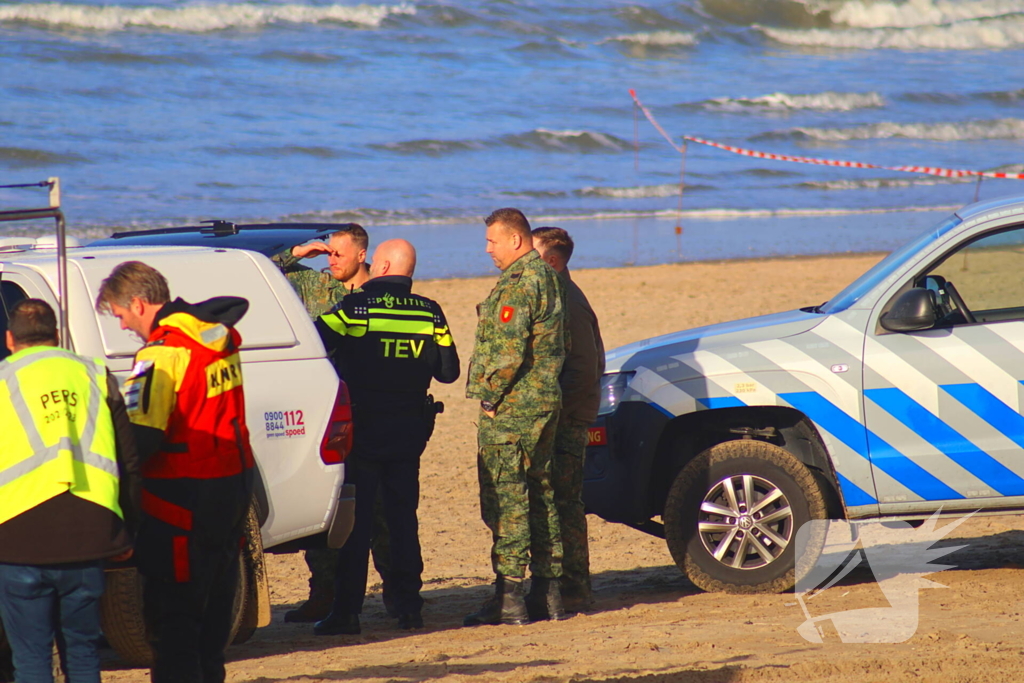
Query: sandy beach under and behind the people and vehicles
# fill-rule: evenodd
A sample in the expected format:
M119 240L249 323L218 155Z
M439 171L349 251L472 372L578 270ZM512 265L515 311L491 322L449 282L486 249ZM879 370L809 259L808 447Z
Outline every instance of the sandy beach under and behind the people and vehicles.
M481 254L482 256L482 254ZM828 299L880 255L689 263L573 273L598 315L605 344L792 309ZM496 271L497 272L497 271ZM417 290L444 307L465 364L475 304L494 278L430 281ZM271 555L273 623L228 650L228 680L406 681L993 681L1024 666L1024 520L975 518L954 536L969 547L947 558L948 588L921 595L916 635L899 644L812 644L793 595L701 593L673 564L665 543L589 517L595 609L560 623L462 628L490 592L489 538L479 518L475 407L464 384L435 386L447 407L423 458L421 540L426 571L421 632L398 631L384 613L371 571L362 635L317 638L283 622L304 599L299 555ZM859 571L859 570L858 570ZM877 604L870 574L855 572L822 611ZM838 600L839 598L827 598ZM856 601L850 604L848 601ZM820 613L820 612L818 612ZM106 653L104 681L148 680Z

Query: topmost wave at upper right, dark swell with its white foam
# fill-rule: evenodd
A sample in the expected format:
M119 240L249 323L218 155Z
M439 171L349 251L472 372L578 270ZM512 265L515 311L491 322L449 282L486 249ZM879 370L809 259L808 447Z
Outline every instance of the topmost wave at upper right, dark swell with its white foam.
M730 24L791 29L911 29L1024 12L1024 0L701 0Z

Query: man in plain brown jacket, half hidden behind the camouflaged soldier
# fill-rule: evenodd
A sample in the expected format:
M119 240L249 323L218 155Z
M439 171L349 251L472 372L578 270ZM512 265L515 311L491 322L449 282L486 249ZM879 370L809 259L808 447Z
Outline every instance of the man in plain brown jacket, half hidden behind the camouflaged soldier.
M572 238L560 227L534 230L534 246L541 258L565 285L568 310L569 352L558 383L562 410L555 432L551 461L551 484L562 529L562 604L565 611L585 611L591 603L590 552L587 514L583 503L583 465L587 454L588 428L597 419L604 374L604 342L597 315L587 295L569 275Z

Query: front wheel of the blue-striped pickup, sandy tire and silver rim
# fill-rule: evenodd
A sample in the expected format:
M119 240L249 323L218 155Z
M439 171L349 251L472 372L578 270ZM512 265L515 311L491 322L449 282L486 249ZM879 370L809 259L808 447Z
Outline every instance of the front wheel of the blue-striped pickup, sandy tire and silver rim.
M814 473L785 450L754 439L694 458L676 477L664 514L679 568L698 588L726 593L791 589L797 530L826 518Z

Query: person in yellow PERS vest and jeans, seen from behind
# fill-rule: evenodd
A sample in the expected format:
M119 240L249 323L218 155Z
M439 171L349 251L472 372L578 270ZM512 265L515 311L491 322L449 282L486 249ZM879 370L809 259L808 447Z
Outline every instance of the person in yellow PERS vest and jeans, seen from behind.
M51 681L54 636L71 681L99 683L104 559L131 555L138 466L117 381L57 348L45 301L9 313L0 362L0 616L15 678Z

